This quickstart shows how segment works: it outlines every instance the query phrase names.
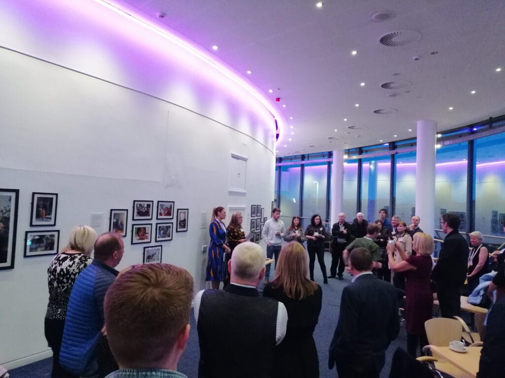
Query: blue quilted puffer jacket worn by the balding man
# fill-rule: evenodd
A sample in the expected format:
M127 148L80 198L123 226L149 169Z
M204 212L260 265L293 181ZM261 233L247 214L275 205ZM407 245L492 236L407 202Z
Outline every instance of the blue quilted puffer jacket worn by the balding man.
M60 364L65 370L79 376L97 372L95 349L104 327L104 297L118 274L95 259L75 280L60 351Z

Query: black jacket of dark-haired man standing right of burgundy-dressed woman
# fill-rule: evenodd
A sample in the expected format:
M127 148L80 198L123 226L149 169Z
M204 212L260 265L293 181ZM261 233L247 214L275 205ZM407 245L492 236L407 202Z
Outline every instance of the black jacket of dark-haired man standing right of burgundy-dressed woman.
M463 287L467 277L467 261L468 243L458 230L452 230L445 236L431 278L438 287Z

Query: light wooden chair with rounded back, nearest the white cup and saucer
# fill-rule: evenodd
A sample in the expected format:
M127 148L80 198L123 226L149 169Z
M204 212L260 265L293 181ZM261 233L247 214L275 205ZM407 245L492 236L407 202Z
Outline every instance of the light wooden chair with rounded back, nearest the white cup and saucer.
M424 329L426 330L428 343L430 343L430 345L426 345L423 348L423 352L425 353L430 350L431 345L445 347L449 346L449 343L453 340L461 340L462 326L456 319L430 319L424 323ZM439 371L452 375L455 378L468 378L468 374L447 361L437 360L433 357L429 357L429 360L434 361L435 368Z

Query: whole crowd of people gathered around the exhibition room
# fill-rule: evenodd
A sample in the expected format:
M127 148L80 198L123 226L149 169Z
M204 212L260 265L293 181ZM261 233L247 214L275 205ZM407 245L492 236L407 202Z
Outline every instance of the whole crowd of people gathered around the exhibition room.
M348 223L341 213L330 233L318 214L305 231L299 217L286 228L275 208L262 233L265 250L246 241L242 214L233 214L228 226L226 215L223 207L215 208L209 226L206 278L212 289L194 296L199 377L319 377L313 333L323 289L314 282L316 258L323 284L342 280L345 270L352 276L342 291L329 346L328 367L336 366L341 378L379 376L385 351L399 333L398 303L404 296L407 350L417 356L418 347L427 344L424 322L432 318L433 292L441 316L450 318L460 313L465 280L474 292L482 290L482 281L489 292L505 288L505 249L494 251L488 273L482 234L470 234L469 252L453 213L441 216L447 235L436 265L433 238L419 228L418 216L407 225L397 216L389 221L381 209L375 223L362 213ZM120 273L115 268L123 254L120 235L97 236L88 226L76 226L51 262L44 331L53 350L52 377L185 377L176 370L189 338L193 278L162 263ZM267 258L275 258L274 273ZM499 352L505 346L505 296L495 297L479 378L499 376L490 367L501 366Z

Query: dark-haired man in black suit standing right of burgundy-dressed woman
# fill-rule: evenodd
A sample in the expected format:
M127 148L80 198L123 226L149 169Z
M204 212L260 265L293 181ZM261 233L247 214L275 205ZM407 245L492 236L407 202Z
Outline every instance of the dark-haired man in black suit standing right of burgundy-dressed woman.
M461 220L457 214L445 213L441 218L440 227L447 236L431 278L436 284L442 317L452 318L461 313L460 296L467 277L468 243L458 232Z

